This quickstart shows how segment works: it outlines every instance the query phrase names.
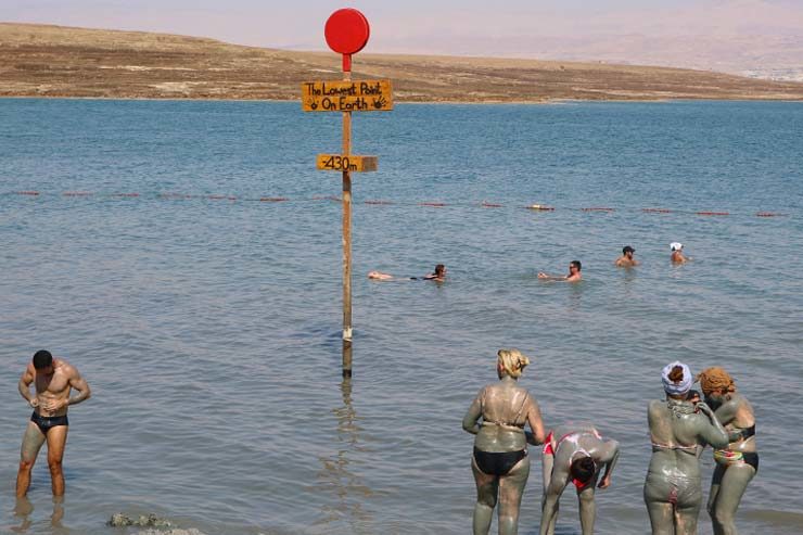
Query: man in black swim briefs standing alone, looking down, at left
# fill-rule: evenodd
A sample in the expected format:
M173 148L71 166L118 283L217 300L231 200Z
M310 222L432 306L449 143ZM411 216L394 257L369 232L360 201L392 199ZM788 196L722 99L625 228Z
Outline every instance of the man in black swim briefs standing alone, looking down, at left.
M30 392L30 383L36 387L35 395ZM21 498L27 494L30 470L46 442L53 496L63 496L62 459L69 425L67 407L88 399L91 395L89 385L66 360L53 358L50 352L42 349L34 355L33 361L20 378L18 387L20 394L34 408L34 413L23 436L20 471L16 474L16 496ZM72 388L78 391L78 395L71 397Z

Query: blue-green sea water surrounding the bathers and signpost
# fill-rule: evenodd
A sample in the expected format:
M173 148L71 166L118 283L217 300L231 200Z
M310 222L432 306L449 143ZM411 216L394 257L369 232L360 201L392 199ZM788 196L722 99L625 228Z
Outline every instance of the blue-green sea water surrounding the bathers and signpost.
M598 533L648 531L646 407L676 358L725 366L756 409L742 532L803 530L802 105L356 116L355 152L379 155L380 170L354 184L346 385L340 205L314 199L340 192L339 175L314 168L339 136L337 116L297 103L0 101L0 531L117 533L103 524L123 511L206 534L467 533L460 420L505 346L533 356L522 383L547 425L592 421L622 444ZM75 191L92 195L62 194ZM521 207L533 203L557 209ZM694 260L671 266L672 241ZM625 244L641 267L612 266ZM535 277L575 258L581 284ZM438 262L443 285L365 277ZM71 410L56 527L43 457L33 512L13 513L29 416L16 381L42 347L93 388ZM537 533L539 472L520 533ZM579 531L575 501L565 494L562 534ZM700 527L711 533L704 511Z

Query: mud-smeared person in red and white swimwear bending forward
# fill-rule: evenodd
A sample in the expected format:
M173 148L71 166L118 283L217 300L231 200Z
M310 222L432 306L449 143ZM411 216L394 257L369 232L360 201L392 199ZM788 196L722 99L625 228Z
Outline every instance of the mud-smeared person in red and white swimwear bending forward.
M577 487L583 535L591 535L597 515L594 502L597 480L604 467L606 472L599 482L599 488L611 485L611 472L616 459L619 443L603 440L592 426L562 426L551 431L541 451L544 496L540 535L555 535L558 501L569 483L574 483Z

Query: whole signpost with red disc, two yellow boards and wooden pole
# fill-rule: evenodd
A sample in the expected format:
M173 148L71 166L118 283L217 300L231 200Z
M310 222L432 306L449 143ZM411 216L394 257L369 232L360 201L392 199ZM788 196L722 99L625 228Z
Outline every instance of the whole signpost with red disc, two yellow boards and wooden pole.
M368 43L368 20L355 9L337 10L324 27L327 43L343 54L343 80L302 84L305 112L343 112L343 152L319 154L317 168L343 173L343 377L352 377L352 173L377 170L377 156L352 154L352 112L393 110L390 80L352 81L352 55Z

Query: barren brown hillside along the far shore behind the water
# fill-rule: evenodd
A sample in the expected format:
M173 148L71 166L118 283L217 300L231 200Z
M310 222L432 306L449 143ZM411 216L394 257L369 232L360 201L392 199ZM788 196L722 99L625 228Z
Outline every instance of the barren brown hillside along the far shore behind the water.
M678 68L359 54L354 78L391 78L397 101L803 100L803 84ZM165 34L0 23L0 97L297 100L340 78L334 53Z

